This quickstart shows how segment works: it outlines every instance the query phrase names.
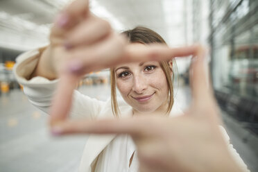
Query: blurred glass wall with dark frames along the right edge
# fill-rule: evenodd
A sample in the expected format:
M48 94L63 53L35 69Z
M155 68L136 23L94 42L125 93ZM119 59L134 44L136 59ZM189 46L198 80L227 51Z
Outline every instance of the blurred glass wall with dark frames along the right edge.
M214 88L258 100L258 1L211 1Z

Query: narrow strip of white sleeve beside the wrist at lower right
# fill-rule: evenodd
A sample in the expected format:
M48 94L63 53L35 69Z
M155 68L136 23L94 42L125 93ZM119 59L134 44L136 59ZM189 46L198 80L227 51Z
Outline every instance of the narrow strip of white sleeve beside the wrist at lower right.
M219 128L221 130L221 133L222 133L225 141L228 144L228 149L230 150L230 154L232 155L233 159L236 161L237 164L239 164L242 171L250 172L250 170L248 169L248 166L245 164L245 162L243 162L239 153L237 153L236 150L234 149L233 145L230 144L230 137L227 135L225 128L223 128L223 126L219 126Z

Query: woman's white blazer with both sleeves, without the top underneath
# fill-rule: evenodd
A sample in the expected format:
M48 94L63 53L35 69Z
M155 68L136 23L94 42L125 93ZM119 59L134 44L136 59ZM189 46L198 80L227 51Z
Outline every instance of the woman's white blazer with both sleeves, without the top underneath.
M48 80L39 76L28 80L37 65L39 56L40 49L28 51L19 55L16 60L17 63L14 67L14 72L18 82L23 85L24 93L28 96L28 100L37 108L47 113L51 106L51 99L58 80ZM132 113L132 107L130 107L130 105L120 99L118 100L118 103L123 117ZM178 113L182 113L182 111L180 111L176 105L173 105L171 111L172 116L173 114ZM80 94L80 92L75 90L70 115L72 118L113 118L111 101L110 99L105 102L98 101L96 98L89 98L89 96ZM223 127L221 127L221 130L229 143L229 149L233 157L240 164L243 171L248 171L246 164L230 144L230 138L228 137L227 132L225 132ZM116 137L116 135L89 135L80 161L79 172L94 171L98 155L108 144L110 144L110 141L112 141L114 137Z

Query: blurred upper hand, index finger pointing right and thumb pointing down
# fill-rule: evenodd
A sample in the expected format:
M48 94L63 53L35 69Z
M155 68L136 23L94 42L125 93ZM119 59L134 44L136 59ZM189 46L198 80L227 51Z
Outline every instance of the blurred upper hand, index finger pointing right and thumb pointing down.
M76 0L60 12L42 53L36 76L60 78L50 110L51 125L67 119L72 94L81 76L123 62L168 60L191 55L195 46L170 49L166 45L129 44L110 24L89 11L89 1Z

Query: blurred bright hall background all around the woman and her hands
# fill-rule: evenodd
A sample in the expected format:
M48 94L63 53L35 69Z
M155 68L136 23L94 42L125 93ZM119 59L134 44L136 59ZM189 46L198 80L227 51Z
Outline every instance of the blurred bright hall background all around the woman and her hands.
M12 74L17 55L48 44L49 28L69 0L0 0L0 171L76 171L87 136L54 139L47 114L28 102ZM209 47L215 96L232 144L258 171L258 1L90 0L117 32L146 26L176 47ZM175 101L191 101L189 58L177 59ZM106 100L109 71L92 71L78 90Z

